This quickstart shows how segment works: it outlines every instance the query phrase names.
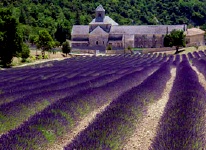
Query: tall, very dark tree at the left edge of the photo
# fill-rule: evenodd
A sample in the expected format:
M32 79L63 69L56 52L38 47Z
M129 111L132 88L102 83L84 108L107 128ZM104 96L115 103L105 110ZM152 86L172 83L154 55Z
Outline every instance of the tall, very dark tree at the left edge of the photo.
M12 58L22 52L23 38L20 31L12 11L0 9L0 63L3 67L9 67Z

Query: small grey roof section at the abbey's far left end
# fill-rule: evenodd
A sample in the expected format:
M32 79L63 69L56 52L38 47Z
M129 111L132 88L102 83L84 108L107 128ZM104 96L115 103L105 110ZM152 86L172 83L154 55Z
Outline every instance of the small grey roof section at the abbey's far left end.
M87 35L89 34L88 25L74 25L72 28L72 35Z

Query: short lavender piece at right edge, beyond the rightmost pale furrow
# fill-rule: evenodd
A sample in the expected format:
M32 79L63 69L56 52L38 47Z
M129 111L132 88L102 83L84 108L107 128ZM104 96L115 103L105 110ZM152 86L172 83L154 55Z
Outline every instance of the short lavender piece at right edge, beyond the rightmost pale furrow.
M204 59L193 59L192 64L197 67L198 71L201 72L206 79L206 60Z

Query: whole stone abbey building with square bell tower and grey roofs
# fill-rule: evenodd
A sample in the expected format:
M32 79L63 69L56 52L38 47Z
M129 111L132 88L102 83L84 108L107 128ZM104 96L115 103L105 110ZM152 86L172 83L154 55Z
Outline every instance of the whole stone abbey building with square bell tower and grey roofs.
M108 45L112 49L124 49L128 46L136 48L163 47L164 36L172 30L183 30L188 44L204 45L204 31L187 29L186 25L118 25L99 5L95 10L95 18L89 25L74 25L71 32L72 49L105 50Z

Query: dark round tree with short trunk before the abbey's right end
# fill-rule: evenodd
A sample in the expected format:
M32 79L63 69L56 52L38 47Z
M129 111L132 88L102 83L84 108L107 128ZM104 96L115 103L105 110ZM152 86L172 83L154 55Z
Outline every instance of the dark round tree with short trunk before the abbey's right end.
M186 44L186 35L182 30L172 30L170 34L167 34L164 38L164 46L165 47L176 47L175 54L179 53L180 47L185 47Z

